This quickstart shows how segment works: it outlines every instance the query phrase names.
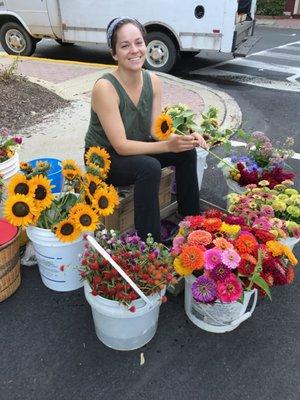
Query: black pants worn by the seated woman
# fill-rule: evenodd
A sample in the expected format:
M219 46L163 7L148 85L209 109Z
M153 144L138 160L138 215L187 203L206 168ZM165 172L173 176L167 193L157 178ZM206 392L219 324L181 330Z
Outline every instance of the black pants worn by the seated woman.
M178 212L183 216L199 214L196 150L134 156L110 151L110 156L107 182L114 186L134 185L134 225L143 240L151 233L155 241L161 241L158 196L164 167L175 166Z

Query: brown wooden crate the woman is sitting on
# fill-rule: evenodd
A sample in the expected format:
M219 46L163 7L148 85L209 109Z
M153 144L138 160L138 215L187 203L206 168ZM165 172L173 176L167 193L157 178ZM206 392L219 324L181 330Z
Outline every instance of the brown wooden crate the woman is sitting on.
M171 204L171 183L174 171L171 168L163 168L161 174L160 188L159 188L159 206L162 211L163 208ZM120 204L115 212L105 217L103 224L107 229L116 229L118 231L125 231L134 227L134 206L133 206L133 187L130 188L129 193L121 198Z

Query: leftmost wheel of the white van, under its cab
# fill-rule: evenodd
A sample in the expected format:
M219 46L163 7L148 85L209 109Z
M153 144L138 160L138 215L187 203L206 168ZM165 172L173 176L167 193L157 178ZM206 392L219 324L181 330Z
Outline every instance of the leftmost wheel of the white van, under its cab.
M36 39L16 22L6 22L2 25L0 42L6 53L20 56L31 56L37 43Z

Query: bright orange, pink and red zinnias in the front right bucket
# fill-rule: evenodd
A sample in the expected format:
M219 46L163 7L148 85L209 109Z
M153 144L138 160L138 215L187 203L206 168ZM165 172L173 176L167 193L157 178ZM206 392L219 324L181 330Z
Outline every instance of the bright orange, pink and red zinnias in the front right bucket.
M242 217L209 210L186 217L173 240L174 269L193 274L194 299L202 303L242 301L243 293L291 283L297 260L289 247L264 229L253 229Z

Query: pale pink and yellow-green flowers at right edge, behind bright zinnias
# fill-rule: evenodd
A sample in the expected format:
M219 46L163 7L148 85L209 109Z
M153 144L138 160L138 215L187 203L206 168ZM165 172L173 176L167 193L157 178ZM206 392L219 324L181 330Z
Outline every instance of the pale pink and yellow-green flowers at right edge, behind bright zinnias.
M244 193L228 195L228 212L278 239L300 238L300 194L292 185L292 181L283 181L273 189L267 181L248 185Z

